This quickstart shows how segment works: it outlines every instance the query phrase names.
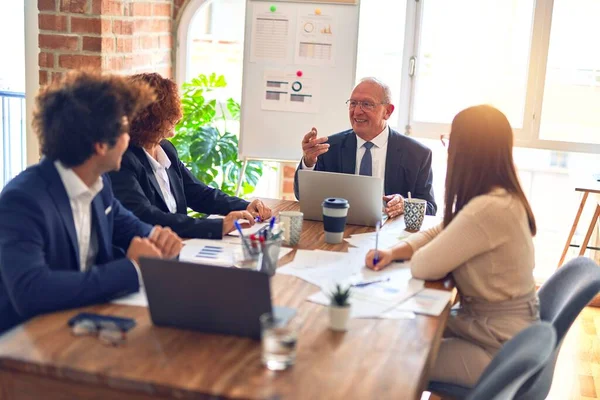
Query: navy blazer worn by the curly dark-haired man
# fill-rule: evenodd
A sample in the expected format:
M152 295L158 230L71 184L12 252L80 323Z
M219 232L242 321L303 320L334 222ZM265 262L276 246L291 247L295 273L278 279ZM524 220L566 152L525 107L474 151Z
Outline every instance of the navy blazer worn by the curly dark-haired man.
M0 194L0 332L36 314L107 302L136 292L132 262L113 253L134 236L148 236L141 222L114 198L110 181L92 201L96 264L79 265L73 212L54 162L44 159L19 174ZM120 258L119 258L120 257Z

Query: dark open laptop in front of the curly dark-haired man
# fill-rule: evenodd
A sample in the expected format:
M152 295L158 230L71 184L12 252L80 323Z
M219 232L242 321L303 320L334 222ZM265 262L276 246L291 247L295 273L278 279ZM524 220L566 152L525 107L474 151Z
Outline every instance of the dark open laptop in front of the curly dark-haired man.
M142 258L140 269L155 325L259 339L262 314L282 320L295 314L271 306L263 272L155 258Z

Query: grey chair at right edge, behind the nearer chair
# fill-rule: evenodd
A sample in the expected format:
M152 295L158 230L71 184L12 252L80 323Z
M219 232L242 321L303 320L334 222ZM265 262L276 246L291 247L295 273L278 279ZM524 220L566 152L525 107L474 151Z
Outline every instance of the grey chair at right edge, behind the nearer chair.
M556 347L548 364L532 376L516 399L543 400L550 391L558 352L565 335L583 308L600 292L600 267L585 257L558 269L540 288L540 318L556 331Z

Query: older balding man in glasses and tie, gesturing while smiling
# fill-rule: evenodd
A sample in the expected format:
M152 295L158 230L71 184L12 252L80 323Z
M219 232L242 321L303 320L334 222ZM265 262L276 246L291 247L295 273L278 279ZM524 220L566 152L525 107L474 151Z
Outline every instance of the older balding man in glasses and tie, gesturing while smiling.
M390 218L404 212L409 192L427 200L427 214L435 215L431 150L388 127L394 111L389 86L363 78L346 104L352 129L317 137L313 127L302 139L303 157L294 178L296 198L300 169L368 175L384 179L383 200Z

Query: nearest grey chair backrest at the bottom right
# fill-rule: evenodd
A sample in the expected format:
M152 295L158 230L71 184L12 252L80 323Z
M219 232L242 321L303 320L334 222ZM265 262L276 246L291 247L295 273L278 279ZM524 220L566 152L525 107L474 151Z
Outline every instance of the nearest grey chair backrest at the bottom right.
M556 345L551 324L537 322L506 342L487 366L467 400L512 399L546 365Z

